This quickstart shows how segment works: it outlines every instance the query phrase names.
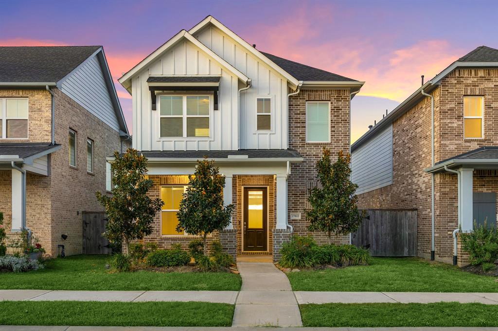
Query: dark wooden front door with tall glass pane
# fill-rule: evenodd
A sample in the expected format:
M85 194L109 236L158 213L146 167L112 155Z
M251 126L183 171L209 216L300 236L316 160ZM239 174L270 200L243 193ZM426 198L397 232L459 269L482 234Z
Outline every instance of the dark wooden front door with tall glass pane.
M266 251L267 220L267 188L244 188L244 250Z

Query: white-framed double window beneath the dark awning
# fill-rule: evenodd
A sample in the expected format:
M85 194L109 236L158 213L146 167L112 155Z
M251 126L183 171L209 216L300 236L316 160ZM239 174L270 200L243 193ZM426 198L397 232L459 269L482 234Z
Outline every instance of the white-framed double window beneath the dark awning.
M161 95L161 137L209 137L209 95Z

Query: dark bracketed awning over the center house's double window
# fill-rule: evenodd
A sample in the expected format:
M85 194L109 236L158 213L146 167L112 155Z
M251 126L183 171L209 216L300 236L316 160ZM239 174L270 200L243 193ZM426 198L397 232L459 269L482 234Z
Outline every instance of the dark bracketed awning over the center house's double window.
M156 110L156 91L212 91L214 110L218 110L218 90L221 76L150 76L149 86L152 110Z

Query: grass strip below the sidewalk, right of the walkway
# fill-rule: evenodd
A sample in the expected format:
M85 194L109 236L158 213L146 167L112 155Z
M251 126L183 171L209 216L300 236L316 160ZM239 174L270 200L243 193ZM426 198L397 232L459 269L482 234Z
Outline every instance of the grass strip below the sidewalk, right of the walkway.
M479 303L301 305L304 327L498 327L498 306Z

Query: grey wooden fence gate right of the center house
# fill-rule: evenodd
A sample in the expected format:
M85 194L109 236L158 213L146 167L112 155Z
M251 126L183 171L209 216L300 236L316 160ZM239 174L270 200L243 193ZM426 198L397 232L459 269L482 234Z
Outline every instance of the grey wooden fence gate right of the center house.
M417 255L416 210L368 210L370 219L363 220L352 244L369 248L372 256Z

